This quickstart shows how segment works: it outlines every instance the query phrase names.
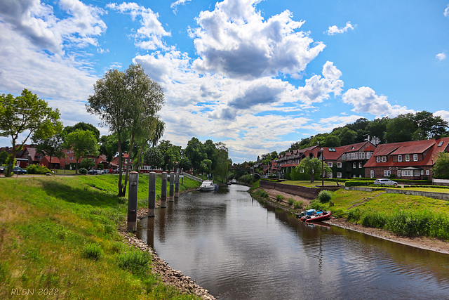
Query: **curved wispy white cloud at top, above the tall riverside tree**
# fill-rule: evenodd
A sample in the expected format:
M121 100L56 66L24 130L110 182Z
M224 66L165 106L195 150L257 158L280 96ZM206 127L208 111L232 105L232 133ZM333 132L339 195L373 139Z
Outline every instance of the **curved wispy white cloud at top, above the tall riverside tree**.
M131 34L135 39L135 46L145 50L169 50L173 48L164 43L163 37L170 37L171 33L163 29L161 22L159 22L159 14L154 13L151 8L145 8L131 2L107 4L106 7L114 11L119 11L119 13L130 15L133 21L138 19L142 27L135 34Z

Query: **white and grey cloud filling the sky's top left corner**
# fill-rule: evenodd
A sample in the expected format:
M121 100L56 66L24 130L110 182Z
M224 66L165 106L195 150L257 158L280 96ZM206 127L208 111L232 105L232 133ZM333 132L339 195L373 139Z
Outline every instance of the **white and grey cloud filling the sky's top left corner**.
M0 20L36 46L58 55L68 46L98 46L95 37L106 30L100 18L105 12L79 0L61 0L59 5L67 18L56 18L53 7L40 0L0 0Z

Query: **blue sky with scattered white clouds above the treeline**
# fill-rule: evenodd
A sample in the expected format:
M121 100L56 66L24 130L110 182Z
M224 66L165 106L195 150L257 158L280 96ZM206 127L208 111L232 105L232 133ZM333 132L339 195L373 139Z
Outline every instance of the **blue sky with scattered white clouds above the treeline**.
M140 63L163 139L223 142L233 162L361 117L449 121L449 0L0 0L0 44L0 92L31 90L65 126L97 126L95 81Z

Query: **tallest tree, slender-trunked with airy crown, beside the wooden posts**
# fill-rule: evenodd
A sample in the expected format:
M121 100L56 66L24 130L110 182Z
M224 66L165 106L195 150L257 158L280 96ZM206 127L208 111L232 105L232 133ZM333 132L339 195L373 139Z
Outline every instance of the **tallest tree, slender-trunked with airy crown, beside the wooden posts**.
M152 118L161 110L163 91L161 86L140 65L130 65L126 72L109 70L93 86L94 94L88 97L88 112L98 115L102 126L115 133L119 145L119 196L126 195L128 169L122 184L121 167L123 150L121 141L129 137L128 155L133 156L134 138L138 130L149 126Z

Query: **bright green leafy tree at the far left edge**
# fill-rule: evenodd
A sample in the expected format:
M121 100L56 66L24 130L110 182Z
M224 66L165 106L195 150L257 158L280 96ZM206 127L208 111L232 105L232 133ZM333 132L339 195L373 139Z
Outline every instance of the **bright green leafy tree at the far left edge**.
M61 126L59 119L58 109L48 107L45 100L39 99L27 89L23 89L17 97L11 94L0 96L0 136L11 137L13 146L5 176L11 175L15 154L22 149L28 138L50 138ZM22 133L25 133L25 137L19 142Z

